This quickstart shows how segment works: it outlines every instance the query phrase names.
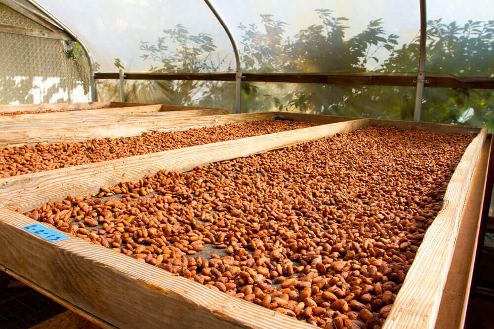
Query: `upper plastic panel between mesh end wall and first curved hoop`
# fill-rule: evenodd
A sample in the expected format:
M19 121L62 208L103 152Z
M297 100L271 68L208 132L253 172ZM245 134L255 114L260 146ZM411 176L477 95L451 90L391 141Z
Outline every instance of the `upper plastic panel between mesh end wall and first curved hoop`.
M39 0L87 45L95 71L214 72L233 48L203 0ZM232 64L233 63L233 64Z

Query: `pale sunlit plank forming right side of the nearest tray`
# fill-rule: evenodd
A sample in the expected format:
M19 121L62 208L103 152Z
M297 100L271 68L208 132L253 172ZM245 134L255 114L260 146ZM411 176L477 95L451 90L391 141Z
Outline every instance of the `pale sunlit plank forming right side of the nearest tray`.
M383 328L433 328L436 324L459 221L487 128L466 148L444 195L444 206L427 229Z

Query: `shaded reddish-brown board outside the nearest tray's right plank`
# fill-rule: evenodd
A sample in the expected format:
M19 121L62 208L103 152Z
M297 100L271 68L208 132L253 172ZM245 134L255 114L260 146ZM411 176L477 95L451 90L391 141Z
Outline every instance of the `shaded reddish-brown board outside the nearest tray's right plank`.
M454 245L453 260L448 273L439 306L435 329L461 329L465 324L470 284L475 263L475 251L479 239L487 164L492 140L487 140L473 173L465 210Z

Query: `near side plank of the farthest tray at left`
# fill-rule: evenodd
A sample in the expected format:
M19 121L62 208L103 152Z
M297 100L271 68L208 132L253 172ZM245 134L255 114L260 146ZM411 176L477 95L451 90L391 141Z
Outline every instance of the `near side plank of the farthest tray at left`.
M142 112L144 111L144 112ZM89 112L89 113L87 113ZM136 108L120 108L108 110L84 110L73 112L61 112L46 114L25 114L31 115L23 120L1 120L0 116L0 131L8 135L9 131L27 130L30 132L40 132L44 129L51 129L54 126L56 129L69 128L74 126L93 126L102 124L115 123L130 123L130 122L145 122L159 121L163 119L175 119L194 116L220 115L228 114L227 109L204 109L204 110L181 110L181 111L165 111L160 110L159 105L151 105ZM39 117L41 116L41 117ZM9 116L4 116L11 118Z

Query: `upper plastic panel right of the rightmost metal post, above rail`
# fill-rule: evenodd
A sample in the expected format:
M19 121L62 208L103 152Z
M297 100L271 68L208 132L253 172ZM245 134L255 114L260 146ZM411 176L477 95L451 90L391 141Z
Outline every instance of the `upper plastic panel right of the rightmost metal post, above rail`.
M493 2L427 1L425 70L464 76L494 76Z

